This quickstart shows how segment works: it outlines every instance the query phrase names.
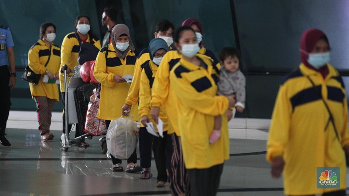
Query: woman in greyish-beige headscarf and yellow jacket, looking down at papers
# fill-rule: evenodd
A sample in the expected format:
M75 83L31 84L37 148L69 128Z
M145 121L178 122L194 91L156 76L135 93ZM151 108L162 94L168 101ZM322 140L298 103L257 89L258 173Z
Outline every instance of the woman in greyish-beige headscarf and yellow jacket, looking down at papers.
M123 100L127 97L130 84L123 78L126 74L133 75L137 55L126 25L117 24L111 32L111 44L103 47L98 53L94 76L102 84L101 100L97 117L105 119L107 128L110 121L122 116ZM133 120L138 119L137 107L133 107L130 114ZM113 171L122 172L122 160L112 157ZM126 172L140 172L142 168L136 165L136 149L127 159Z

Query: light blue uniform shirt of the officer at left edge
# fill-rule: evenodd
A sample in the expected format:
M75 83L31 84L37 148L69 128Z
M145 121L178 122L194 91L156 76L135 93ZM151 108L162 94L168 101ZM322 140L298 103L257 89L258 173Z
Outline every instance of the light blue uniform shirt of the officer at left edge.
M0 26L0 66L8 64L7 48L14 45L10 28Z

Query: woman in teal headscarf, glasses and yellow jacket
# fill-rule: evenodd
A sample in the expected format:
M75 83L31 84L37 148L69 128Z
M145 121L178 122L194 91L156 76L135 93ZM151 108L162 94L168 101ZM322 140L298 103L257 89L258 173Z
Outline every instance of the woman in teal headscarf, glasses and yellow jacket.
M166 41L161 38L152 39L149 42L149 57L150 61L144 64L143 71L141 73L140 81L140 104L139 104L139 116L141 117L141 123L146 127L146 122L153 122L154 127L156 123L150 116L150 100L151 91L154 82L156 72L159 64L168 50ZM151 149L153 149L156 168L158 170L156 187L164 187L167 181L166 170L170 168L172 140L167 135L168 123L167 115L164 108L160 111L160 118L164 122L163 136L155 137L149 134L144 126L140 128L140 158L141 167L144 168L141 179L149 179L151 174Z

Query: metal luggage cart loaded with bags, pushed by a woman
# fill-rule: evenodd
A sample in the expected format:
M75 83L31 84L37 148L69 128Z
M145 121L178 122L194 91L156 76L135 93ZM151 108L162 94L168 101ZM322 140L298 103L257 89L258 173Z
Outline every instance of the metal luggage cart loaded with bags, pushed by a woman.
M92 136L87 133L86 134L81 133L82 135L80 137L76 137L74 139L70 139L69 137L71 130L69 130L68 125L72 123L78 123L73 91L76 87L81 85L82 80L81 78L71 78L69 82L69 87L68 87L67 73L66 73L67 69L68 69L67 65L63 65L61 69L61 72L63 73L63 77L64 77L64 90L65 90L65 100L64 100L65 101L65 107L64 107L65 134L62 133L62 136L61 136L62 150L64 152L68 151L69 147L71 147L71 144L76 144L81 148L87 148L86 146L82 145L82 141L84 141L86 138L92 139ZM71 107L70 105L73 105L73 107Z

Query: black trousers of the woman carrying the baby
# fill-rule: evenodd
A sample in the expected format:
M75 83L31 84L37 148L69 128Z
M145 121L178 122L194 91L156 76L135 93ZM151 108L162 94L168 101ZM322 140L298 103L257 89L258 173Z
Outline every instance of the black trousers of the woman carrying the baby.
M214 165L207 169L188 169L191 196L217 195L223 164Z

